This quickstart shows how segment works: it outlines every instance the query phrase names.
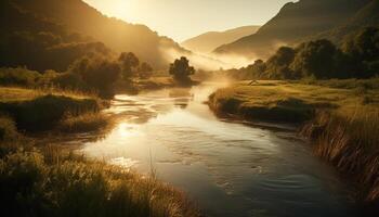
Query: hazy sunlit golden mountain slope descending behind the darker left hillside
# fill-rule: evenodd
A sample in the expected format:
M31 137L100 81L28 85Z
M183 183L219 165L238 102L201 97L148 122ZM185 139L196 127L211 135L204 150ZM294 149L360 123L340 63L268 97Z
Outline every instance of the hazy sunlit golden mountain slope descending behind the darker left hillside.
M9 0L66 26L67 29L103 42L116 52L134 52L154 67L168 67L162 49L185 52L168 37L160 37L144 25L134 25L107 17L81 0Z

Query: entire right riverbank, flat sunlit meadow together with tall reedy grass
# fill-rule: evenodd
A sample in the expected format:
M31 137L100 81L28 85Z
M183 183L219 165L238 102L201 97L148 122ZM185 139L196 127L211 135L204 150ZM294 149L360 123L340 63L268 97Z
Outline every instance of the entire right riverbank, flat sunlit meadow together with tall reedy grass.
M315 154L355 177L357 197L378 212L377 80L239 82L209 97L220 116L297 124Z

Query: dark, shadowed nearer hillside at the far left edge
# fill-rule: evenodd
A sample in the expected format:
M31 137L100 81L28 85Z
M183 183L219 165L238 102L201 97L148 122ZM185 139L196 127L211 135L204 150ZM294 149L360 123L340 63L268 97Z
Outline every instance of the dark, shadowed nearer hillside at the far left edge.
M26 66L44 72L64 72L88 53L110 55L104 43L67 30L63 25L0 2L0 66Z

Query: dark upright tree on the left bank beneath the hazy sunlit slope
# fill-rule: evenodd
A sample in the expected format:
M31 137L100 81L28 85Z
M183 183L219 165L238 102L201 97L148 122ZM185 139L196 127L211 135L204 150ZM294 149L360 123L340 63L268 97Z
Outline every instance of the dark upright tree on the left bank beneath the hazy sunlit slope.
M128 80L136 76L135 67L140 65L140 60L134 55L134 53L123 52L118 58L118 61L121 65L121 74L123 79Z

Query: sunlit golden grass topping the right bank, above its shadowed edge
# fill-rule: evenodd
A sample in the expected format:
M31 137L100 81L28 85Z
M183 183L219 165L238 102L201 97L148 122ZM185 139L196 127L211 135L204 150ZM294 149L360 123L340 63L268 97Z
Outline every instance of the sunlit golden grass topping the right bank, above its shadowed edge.
M287 81L263 81L249 85L244 81L215 91L210 98L210 104L215 110L222 110L231 100L237 104L226 112L252 111L256 108L283 108L287 112L296 108L313 110L338 108L340 113L351 114L356 107L375 111L379 106L379 90L358 91L354 89L330 88L327 86L305 85ZM301 104L293 104L301 102ZM291 105L292 103L292 105ZM239 112L238 112L239 111ZM221 111L222 112L222 111Z

